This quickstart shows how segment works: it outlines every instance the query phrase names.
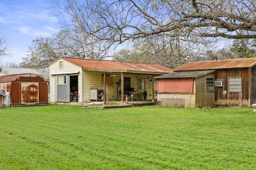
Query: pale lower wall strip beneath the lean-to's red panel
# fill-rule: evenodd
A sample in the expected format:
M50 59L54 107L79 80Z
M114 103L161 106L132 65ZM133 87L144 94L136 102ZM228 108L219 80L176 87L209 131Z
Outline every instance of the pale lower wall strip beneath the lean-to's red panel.
M157 101L164 107L196 107L196 95L192 93L158 93Z

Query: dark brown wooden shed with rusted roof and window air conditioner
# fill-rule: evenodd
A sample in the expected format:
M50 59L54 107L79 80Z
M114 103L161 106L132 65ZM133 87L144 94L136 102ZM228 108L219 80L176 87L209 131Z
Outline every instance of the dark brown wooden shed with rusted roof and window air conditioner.
M191 62L174 72L206 70L215 70L214 106L251 107L256 103L256 58Z

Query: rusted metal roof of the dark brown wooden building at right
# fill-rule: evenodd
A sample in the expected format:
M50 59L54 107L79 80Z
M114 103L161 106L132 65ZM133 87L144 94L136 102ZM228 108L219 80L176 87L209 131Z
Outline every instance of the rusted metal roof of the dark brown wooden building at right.
M252 68L256 65L256 58L216 60L216 61L199 61L184 64L174 71L185 70L216 70L227 68Z

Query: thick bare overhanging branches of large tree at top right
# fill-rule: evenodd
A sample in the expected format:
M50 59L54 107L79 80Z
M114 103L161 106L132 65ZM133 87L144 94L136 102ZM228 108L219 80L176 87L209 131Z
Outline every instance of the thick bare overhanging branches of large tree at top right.
M116 42L152 35L256 38L255 0L115 0L101 9ZM102 13L103 12L103 13ZM100 29L98 29L100 30ZM112 31L110 31L112 30ZM243 30L243 34L238 32ZM198 38L197 38L198 39Z

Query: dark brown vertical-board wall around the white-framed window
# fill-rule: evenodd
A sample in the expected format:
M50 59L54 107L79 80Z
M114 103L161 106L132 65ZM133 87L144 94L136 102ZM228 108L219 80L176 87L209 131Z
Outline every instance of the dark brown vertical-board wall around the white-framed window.
M228 77L241 77L241 92L228 92ZM216 70L215 81L223 80L223 87L215 87L215 103L226 106L250 107L250 69Z

